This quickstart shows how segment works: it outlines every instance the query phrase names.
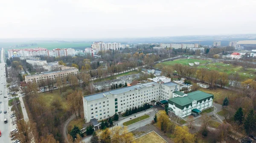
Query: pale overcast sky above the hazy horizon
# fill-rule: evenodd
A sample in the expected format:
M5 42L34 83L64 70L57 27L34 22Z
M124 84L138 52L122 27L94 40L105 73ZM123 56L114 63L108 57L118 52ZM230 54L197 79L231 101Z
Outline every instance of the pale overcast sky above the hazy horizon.
M1 0L0 38L256 34L256 0Z

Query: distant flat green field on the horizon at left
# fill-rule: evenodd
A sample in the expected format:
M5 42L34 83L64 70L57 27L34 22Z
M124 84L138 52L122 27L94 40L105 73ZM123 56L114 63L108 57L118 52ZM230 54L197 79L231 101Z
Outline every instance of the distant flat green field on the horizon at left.
M16 45L21 44L31 44L31 43L37 43L37 45L33 46L25 46L25 47L17 47L17 49L24 49L24 48L47 48L49 50L52 50L54 48L86 48L90 47L91 43L85 43L85 42L0 42L0 48L6 48L8 49L16 49ZM5 50L7 52L7 50Z

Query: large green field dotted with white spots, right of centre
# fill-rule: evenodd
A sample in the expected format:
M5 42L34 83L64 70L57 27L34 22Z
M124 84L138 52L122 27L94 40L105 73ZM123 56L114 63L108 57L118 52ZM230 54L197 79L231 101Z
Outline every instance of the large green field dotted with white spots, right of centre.
M207 68L207 70L217 70L219 72L227 73L229 75L238 74L240 79L239 81L244 81L250 78L256 77L256 69L248 68L246 71L243 70L241 66L234 66L232 64L224 64L223 62L212 62L210 60L199 60L199 59L177 59L174 61L161 62L156 64L156 68L162 68L165 66L173 66L174 64L183 64L188 65L188 63L200 62L199 65L195 65L197 68Z

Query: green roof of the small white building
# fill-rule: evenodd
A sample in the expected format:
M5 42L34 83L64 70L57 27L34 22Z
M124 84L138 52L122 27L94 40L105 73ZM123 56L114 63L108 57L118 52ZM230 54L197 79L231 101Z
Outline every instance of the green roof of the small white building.
M188 93L187 96L183 97L175 97L168 100L169 104L175 104L176 107L180 109L184 109L184 107L192 106L192 101L196 100L197 102L202 102L206 99L213 99L213 95L209 93L204 93L202 91L194 91L192 93Z

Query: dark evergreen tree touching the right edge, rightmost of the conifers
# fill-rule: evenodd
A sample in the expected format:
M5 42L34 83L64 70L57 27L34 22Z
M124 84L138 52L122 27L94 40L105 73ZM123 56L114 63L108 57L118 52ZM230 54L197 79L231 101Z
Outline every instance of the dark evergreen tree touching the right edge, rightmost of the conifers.
M244 130L247 133L247 135L256 130L255 123L256 123L256 121L255 121L254 112L253 112L253 110L250 110L247 118L245 118L245 120L244 120Z

